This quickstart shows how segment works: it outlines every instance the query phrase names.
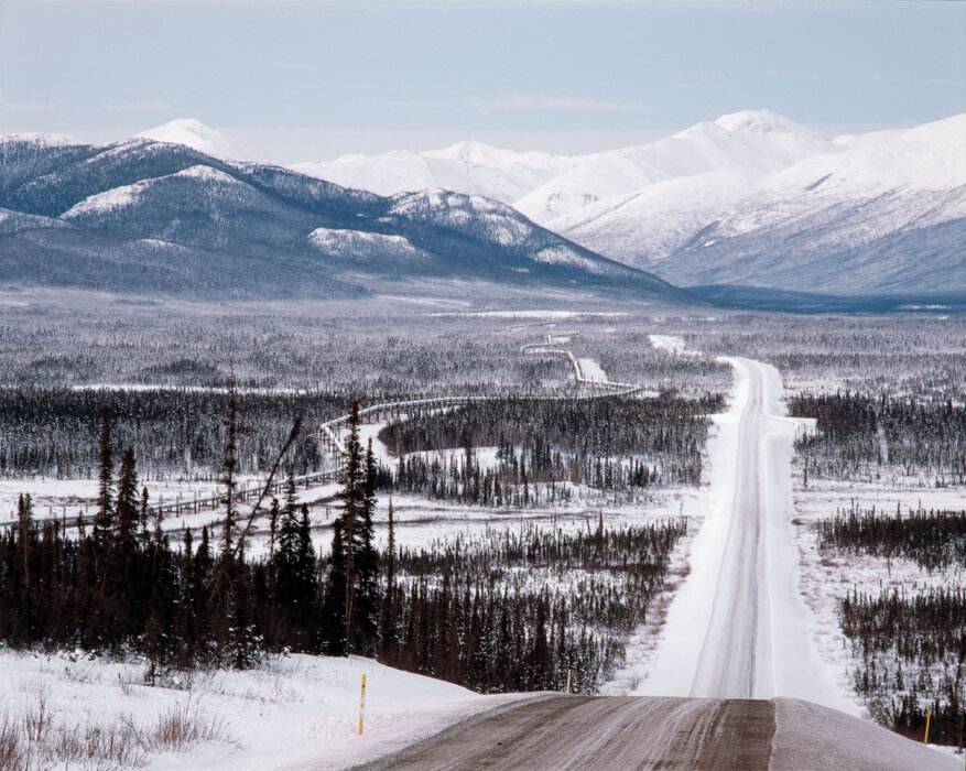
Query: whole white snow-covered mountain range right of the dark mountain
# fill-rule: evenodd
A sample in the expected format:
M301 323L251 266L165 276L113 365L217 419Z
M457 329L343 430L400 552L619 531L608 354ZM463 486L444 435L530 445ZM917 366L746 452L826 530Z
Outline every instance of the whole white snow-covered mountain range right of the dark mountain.
M832 137L753 110L589 155L467 142L299 167L383 194L486 195L683 285L966 291L966 116Z

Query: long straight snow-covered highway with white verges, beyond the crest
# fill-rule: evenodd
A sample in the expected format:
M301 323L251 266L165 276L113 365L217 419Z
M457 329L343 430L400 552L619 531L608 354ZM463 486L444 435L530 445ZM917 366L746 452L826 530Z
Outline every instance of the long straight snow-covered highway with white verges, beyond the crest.
M790 514L795 426L778 370L728 358L736 384L708 446L707 517L667 613L651 674L634 693L804 698L854 715L818 658L799 591Z

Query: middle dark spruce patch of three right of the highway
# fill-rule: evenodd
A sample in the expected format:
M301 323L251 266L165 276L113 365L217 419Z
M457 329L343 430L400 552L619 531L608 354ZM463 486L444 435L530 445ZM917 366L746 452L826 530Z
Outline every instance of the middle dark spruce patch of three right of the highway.
M896 513L887 514L876 507L861 510L854 502L850 509L818 522L816 529L822 549L888 560L905 557L930 572L966 565L966 511L920 508L903 515L897 504Z

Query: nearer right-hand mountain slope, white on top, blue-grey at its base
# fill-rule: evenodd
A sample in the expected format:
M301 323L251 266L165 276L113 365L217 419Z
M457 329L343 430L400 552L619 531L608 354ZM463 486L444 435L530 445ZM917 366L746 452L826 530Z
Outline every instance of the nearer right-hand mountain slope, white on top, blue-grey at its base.
M842 138L763 175L674 180L547 226L685 285L966 290L966 116Z

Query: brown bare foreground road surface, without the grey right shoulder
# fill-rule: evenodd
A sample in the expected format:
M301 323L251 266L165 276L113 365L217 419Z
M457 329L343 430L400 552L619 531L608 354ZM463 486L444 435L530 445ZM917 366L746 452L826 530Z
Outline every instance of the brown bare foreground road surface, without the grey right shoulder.
M370 765L430 769L767 769L771 702L553 696L470 718Z

